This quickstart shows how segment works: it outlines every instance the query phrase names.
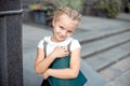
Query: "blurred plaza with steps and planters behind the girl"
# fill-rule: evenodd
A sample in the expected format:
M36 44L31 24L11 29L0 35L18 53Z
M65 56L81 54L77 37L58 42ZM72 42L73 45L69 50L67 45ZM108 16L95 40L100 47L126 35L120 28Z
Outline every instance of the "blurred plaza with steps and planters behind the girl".
M40 86L34 71L38 42L52 34L53 12L70 6L82 14L74 38L81 49L88 86L130 86L130 0L23 0L24 86Z

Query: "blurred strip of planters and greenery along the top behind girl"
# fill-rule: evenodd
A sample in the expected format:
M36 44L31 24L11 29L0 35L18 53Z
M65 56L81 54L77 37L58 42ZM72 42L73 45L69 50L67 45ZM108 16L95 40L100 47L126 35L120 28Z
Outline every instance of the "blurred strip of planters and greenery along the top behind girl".
M53 11L65 5L78 10L84 16L114 18L118 13L130 12L130 0L23 0L24 22L50 25Z

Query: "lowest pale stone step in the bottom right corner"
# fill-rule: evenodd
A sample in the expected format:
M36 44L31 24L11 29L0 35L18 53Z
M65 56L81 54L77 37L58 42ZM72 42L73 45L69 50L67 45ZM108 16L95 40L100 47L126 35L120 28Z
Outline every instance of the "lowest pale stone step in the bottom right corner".
M130 70L105 86L130 86Z

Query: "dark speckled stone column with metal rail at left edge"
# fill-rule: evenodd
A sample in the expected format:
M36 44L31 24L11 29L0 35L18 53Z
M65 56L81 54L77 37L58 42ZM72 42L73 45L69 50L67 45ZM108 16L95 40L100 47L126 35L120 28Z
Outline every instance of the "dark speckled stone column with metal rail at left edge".
M0 0L0 86L23 86L22 0Z

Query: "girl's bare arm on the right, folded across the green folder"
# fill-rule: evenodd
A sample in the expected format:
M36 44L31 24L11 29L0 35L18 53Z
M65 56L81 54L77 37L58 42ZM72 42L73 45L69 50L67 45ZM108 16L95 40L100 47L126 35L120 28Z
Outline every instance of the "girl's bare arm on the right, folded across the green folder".
M75 78L78 75L80 69L80 48L72 52L70 55L70 64L67 69L48 69L47 72L43 73L43 77L48 78L48 76L54 76L58 78Z

